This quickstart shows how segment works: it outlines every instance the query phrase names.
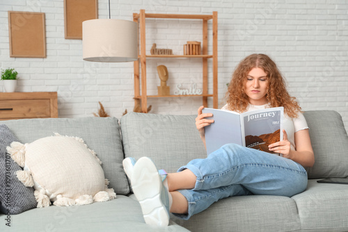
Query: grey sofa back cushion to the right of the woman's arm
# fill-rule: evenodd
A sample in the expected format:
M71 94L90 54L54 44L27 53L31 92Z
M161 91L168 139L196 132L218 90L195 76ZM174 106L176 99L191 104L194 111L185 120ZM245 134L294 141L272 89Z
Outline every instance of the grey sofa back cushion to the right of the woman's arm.
M306 117L315 164L308 179L348 176L348 136L342 117L333 110L313 110Z

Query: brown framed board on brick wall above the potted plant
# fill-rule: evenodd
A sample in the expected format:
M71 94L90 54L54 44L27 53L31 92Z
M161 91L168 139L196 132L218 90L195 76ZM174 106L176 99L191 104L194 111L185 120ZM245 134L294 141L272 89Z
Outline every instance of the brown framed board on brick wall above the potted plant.
M8 11L10 57L46 57L45 13Z

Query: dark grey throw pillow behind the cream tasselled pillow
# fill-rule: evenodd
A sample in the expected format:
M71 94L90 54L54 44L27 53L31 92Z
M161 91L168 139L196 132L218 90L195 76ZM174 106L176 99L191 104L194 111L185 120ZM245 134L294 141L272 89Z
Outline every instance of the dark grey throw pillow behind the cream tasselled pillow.
M22 168L6 153L6 147L17 141L8 126L0 125L0 212L18 214L36 207L33 188L18 181L16 172Z

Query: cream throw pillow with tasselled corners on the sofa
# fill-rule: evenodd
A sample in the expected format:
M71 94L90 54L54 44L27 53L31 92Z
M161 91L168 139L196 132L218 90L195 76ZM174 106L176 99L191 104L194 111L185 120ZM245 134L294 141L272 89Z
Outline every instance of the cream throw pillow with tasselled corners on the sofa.
M101 162L81 138L56 136L30 144L11 143L8 153L24 167L17 178L33 186L38 208L54 202L56 206L91 204L116 197L108 189Z

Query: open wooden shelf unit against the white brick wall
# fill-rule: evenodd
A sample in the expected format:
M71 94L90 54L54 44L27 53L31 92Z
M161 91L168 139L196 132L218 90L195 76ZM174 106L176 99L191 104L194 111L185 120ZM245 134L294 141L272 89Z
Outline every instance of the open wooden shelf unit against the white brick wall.
M203 22L203 44L200 55L147 55L145 40L145 19L193 19L202 20ZM212 54L208 54L208 21L212 20ZM134 103L136 106L141 105L141 111L147 113L148 98L151 97L202 97L203 106L207 107L207 98L213 98L213 108L218 108L218 62L217 62L217 12L212 15L171 15L171 14L148 14L145 10L133 14L133 21L139 23L140 51L139 59L134 61ZM184 45L184 44L182 44ZM197 58L203 63L203 94L200 95L148 95L146 88L146 59L148 58ZM212 94L208 93L208 62L212 58ZM141 70L139 69L139 60Z

